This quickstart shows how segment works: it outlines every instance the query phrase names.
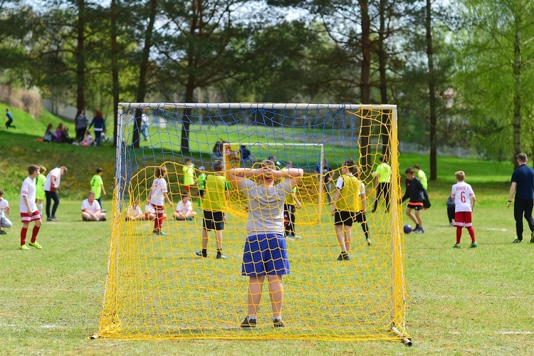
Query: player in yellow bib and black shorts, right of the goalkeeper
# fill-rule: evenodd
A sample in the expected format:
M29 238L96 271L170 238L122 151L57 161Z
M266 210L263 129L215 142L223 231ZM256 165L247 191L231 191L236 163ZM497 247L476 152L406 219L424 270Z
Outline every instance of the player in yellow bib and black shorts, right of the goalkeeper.
M341 175L335 184L334 215L335 235L341 247L337 261L349 261L350 251L350 228L355 219L355 213L361 211L360 207L360 182L352 174L355 164L352 159L347 159L341 167Z

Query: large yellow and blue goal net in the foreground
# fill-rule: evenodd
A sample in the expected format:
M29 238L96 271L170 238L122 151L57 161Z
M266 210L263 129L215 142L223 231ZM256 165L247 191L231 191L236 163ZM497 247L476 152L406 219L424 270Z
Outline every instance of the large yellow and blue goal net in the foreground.
M389 204L401 194L394 105L121 103L117 142L98 337L409 337L402 212ZM380 157L392 179L389 201L380 197L374 206ZM282 278L285 328L273 328L270 298L279 295L265 281L257 327L248 330L240 327L248 305L241 268L251 206L227 171L258 167L264 159L278 169L303 169L304 176L285 193L283 217L276 209L271 216L283 219L289 264ZM344 260L333 199L347 159L359 168L355 201L367 210L365 224L360 214L349 229ZM177 212L182 207L184 216ZM209 231L203 250L206 211L219 234Z

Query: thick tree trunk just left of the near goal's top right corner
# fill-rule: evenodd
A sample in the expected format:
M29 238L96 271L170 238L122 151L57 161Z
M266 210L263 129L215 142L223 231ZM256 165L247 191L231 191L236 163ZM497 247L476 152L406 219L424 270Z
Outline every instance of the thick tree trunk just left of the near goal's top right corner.
M370 88L370 73L371 73L371 20L369 18L369 2L367 0L360 0L360 7L362 10L362 72L360 82L360 98L362 104L370 104L371 88ZM369 164L369 143L371 134L371 120L369 117L369 110L362 111L362 127L360 128L360 165L364 172L370 170Z

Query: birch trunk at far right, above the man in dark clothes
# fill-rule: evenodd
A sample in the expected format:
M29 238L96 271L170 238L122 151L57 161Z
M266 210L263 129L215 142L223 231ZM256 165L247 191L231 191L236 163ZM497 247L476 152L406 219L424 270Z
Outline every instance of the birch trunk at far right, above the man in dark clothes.
M515 80L513 93L513 164L519 167L517 155L521 152L521 122L523 121L521 102L521 32L516 29L514 43L513 78Z

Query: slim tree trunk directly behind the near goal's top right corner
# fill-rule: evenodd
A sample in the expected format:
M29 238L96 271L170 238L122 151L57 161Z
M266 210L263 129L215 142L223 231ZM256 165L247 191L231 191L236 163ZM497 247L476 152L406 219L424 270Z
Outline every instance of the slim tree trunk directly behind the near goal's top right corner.
M388 103L387 98L387 53L384 42L386 37L386 0L380 0L379 3L379 17L380 28L378 33L378 71L380 76L380 101L382 104ZM382 139L382 155L386 157L384 162L389 162L390 148L389 135L391 134L391 111L382 114L382 124L380 125L380 138Z

